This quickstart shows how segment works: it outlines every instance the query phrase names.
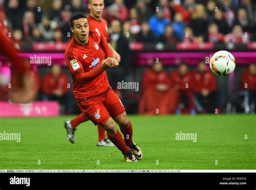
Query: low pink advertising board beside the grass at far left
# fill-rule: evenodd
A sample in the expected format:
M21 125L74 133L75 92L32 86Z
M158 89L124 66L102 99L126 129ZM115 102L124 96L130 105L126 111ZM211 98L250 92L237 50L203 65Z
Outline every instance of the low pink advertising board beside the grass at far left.
M38 101L26 104L0 102L0 117L46 117L58 115L59 105L56 101Z

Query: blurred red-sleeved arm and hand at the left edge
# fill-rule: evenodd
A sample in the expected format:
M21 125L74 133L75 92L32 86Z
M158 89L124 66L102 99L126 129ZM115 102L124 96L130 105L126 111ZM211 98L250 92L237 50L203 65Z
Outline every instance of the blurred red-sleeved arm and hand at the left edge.
M29 61L21 58L18 44L12 39L8 22L0 7L0 52L11 64L11 83L8 99L15 103L29 103L35 100L39 88L37 73L33 71Z

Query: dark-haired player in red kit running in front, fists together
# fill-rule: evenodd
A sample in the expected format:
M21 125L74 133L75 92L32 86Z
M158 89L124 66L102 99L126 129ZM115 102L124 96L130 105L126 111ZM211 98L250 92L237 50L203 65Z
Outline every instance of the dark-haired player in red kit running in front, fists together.
M66 48L65 61L80 109L95 125L103 126L107 137L124 154L125 161L141 160L142 151L132 140L132 124L106 77L106 69L117 67L118 61L113 58L104 36L97 31L89 32L86 16L78 13L71 17L70 23L75 37Z

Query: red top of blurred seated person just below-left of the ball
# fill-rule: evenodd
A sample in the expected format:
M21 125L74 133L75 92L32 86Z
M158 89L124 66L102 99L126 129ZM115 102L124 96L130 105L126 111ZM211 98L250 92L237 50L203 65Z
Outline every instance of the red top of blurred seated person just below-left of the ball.
M203 89L213 92L216 90L215 76L210 71L206 71L203 74L196 70L193 73L194 91L200 93Z

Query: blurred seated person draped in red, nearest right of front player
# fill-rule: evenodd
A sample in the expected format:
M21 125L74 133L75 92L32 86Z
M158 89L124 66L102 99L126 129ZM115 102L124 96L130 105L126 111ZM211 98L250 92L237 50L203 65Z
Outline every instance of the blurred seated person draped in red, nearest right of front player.
M155 62L147 69L142 79L142 97L139 114L170 114L176 109L176 90L171 88L170 79L162 62Z

